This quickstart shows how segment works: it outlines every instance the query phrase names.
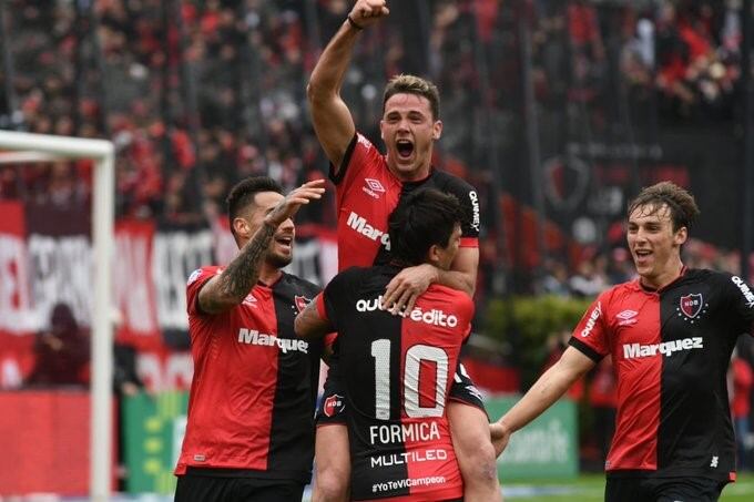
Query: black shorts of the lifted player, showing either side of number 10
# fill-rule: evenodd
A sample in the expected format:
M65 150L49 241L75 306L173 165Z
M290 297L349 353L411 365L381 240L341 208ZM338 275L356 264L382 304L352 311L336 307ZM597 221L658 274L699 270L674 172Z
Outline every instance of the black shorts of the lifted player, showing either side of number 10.
M337 370L327 373L325 380L325 388L322 396L322 401L317 406L317 426L326 426L333 423L346 423L346 401L345 401L345 385L343 385ZM463 365L458 365L456 375L454 376L452 386L450 386L450 401L458 401L465 404L470 404L479 408L485 414L485 403L481 400L481 395L471 381L471 377L466 372ZM488 417L489 419L489 417Z

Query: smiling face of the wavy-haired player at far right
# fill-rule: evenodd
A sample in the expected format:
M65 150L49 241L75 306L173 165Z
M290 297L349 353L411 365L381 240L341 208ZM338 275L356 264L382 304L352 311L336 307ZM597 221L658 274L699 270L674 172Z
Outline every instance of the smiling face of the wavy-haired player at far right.
M668 206L646 204L629 215L628 242L642 281L661 287L680 272L681 245L686 242L686 227L673 232Z

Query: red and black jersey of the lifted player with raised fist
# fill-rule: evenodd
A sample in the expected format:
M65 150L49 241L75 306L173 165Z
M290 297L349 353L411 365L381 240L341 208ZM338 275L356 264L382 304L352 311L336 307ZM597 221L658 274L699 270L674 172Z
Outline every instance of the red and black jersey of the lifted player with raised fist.
M337 174L338 270L369 267L389 262L387 222L401 197L424 187L455 195L466 214L461 224L461 247L479 246L479 197L458 176L432 168L418 182L400 182L387 167L385 155L361 134L351 140Z

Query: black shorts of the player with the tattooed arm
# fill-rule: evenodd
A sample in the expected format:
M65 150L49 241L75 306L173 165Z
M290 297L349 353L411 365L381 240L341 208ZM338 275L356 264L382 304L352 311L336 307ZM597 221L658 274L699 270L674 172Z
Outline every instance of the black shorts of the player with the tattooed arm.
M205 475L179 477L175 502L292 502L304 498L304 483L296 480Z

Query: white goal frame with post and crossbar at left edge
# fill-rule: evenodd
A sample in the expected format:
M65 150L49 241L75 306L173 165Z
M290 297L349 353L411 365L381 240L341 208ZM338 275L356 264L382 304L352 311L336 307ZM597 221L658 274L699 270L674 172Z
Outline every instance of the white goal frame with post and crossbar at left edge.
M111 257L113 250L115 147L106 140L0 131L0 164L91 158L94 161L92 247L94 301L92 303L92 382L90 481L92 501L106 502L112 471L113 329Z

